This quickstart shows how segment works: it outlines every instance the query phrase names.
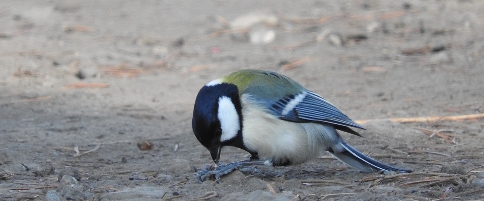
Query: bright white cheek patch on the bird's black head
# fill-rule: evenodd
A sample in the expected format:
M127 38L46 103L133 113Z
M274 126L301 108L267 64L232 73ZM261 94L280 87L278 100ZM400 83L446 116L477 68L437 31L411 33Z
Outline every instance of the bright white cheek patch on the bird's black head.
M222 128L221 142L234 138L240 130L239 115L232 100L227 96L219 98L219 114L217 114Z

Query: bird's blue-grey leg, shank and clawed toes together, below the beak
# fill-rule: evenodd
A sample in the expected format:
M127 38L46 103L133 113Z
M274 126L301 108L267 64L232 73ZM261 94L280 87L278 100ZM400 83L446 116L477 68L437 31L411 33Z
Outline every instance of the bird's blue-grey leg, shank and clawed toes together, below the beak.
M201 183L208 180L211 176L214 176L215 180L219 182L221 176L229 174L235 169L244 173L258 174L262 177L262 172L260 172L260 170L257 169L255 166L264 164L265 163L262 160L243 160L233 163L221 164L216 167L207 165L205 166L204 170L200 170L196 173L196 178L198 182Z

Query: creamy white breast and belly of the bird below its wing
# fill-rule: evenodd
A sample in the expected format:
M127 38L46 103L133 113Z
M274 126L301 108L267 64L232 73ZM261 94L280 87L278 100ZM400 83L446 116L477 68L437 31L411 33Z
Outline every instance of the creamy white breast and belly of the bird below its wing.
M337 140L331 126L281 120L264 112L246 94L242 104L244 145L262 160L302 163L319 156Z

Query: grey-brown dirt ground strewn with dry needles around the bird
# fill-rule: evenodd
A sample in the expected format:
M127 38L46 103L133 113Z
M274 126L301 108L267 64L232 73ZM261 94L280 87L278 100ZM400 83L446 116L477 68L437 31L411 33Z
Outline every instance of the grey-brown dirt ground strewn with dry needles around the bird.
M484 1L1 4L2 200L484 199L483 118L462 116L484 113ZM244 68L370 120L365 138L341 135L416 173L324 155L199 184L213 162L191 130L195 95ZM452 118L390 121L430 116ZM224 148L221 162L246 157Z

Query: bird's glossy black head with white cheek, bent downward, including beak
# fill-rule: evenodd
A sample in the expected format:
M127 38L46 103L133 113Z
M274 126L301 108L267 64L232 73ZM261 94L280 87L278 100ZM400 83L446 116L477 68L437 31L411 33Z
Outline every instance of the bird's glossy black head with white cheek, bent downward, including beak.
M196 139L218 165L222 147L241 143L242 106L237 86L219 81L203 86L196 96L191 123Z

